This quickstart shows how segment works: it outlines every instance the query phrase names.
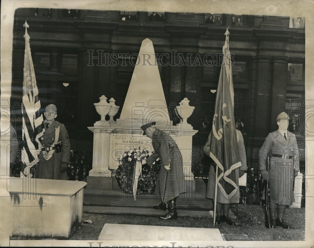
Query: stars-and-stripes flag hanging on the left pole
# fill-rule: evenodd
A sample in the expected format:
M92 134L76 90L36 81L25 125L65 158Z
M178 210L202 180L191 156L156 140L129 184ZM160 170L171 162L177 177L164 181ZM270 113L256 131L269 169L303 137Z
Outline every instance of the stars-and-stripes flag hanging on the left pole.
M36 85L33 60L30 52L30 36L27 33L29 25L25 21L25 53L24 53L24 76L23 76L23 98L22 98L22 163L27 167L35 165L41 156L41 144L39 137L43 134L43 117L39 110L41 108L38 100L38 88ZM25 170L26 175L28 174Z

